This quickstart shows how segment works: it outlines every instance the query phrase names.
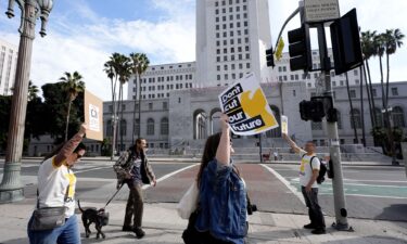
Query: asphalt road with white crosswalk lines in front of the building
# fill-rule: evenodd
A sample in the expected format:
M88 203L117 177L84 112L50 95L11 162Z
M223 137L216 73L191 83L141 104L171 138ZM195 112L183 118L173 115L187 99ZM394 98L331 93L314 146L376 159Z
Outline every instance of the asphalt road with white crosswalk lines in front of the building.
M36 197L39 160L24 162L22 181L25 196ZM147 202L178 202L195 177L198 166L183 163L153 163L158 183L144 191ZM306 208L298 193L296 165L239 164L246 181L252 202L259 210L305 214ZM0 177L3 166L0 163ZM76 168L77 198L101 205L116 191L112 163L84 160ZM180 171L179 171L180 170ZM349 217L407 221L407 179L403 167L345 166L344 189ZM127 188L114 201L125 202ZM320 185L320 205L326 215L334 216L332 184L328 179Z

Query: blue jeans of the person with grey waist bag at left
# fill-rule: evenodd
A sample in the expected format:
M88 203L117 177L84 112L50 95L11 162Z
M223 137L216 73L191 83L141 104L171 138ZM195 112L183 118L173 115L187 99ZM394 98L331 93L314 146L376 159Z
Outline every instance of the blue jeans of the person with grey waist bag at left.
M30 244L80 244L79 226L76 215L66 219L65 224L52 230L31 231L29 226L33 216L28 221L27 232Z

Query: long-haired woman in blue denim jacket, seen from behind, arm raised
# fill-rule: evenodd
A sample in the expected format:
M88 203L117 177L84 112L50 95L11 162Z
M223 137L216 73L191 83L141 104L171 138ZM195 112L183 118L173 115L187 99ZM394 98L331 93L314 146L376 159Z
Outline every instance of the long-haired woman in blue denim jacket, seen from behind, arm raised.
M246 190L232 164L228 116L220 117L221 133L206 140L198 174L200 188L195 229L208 233L207 242L243 244L246 235Z

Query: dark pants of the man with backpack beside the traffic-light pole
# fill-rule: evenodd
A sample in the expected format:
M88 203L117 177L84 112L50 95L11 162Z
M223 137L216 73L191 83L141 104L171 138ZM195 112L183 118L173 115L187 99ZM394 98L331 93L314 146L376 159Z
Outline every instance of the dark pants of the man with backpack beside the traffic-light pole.
M305 204L308 207L310 223L316 229L325 229L326 226L322 210L318 204L318 188L311 188L311 191L308 193L305 191L305 187L301 187L301 191L303 192Z

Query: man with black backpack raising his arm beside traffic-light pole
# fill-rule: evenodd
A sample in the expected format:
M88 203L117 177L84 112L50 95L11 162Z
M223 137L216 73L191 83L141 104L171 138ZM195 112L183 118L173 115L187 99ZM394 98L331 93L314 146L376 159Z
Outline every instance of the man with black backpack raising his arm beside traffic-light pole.
M316 156L316 146L313 141L307 141L305 143L304 150L300 149L293 140L283 133L283 138L289 142L293 151L298 154L301 159L300 166L300 183L301 191L304 195L305 204L308 207L308 216L310 223L305 224L305 229L313 229L313 234L325 234L326 224L322 215L321 207L318 204L318 183L323 179L320 176L321 163Z

